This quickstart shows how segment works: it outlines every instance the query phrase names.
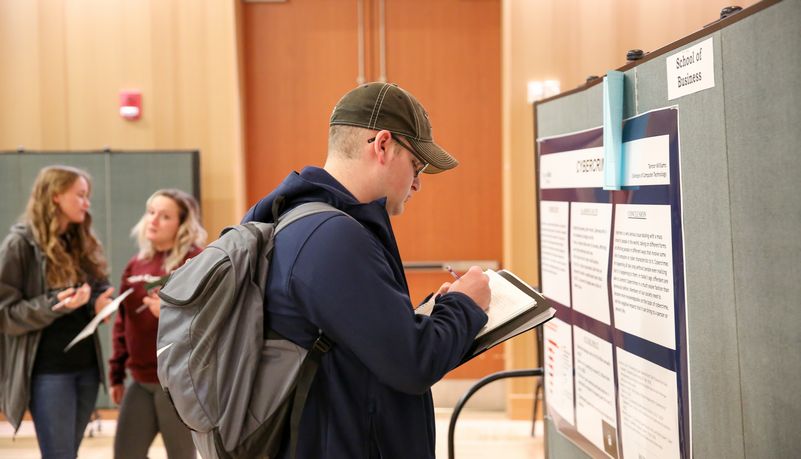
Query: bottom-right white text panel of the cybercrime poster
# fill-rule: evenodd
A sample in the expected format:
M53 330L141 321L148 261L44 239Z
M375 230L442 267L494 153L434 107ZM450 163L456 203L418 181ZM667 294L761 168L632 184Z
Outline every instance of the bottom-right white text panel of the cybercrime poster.
M623 457L679 455L676 373L617 348Z

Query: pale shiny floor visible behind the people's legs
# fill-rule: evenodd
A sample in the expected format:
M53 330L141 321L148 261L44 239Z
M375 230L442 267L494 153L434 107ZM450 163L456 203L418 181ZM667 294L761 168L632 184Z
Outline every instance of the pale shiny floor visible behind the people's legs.
M448 457L448 423L450 409L437 409L437 458ZM112 456L116 422L95 422L91 437L81 444L81 459L106 459ZM99 429L99 430L98 430ZM530 421L511 421L502 412L464 410L456 424L454 440L455 458L543 458L542 423L537 422L537 435L531 437ZM10 424L0 424L0 457L34 459L39 457L33 424L24 421L16 439L12 441ZM167 455L157 438L150 448L150 459L166 459Z

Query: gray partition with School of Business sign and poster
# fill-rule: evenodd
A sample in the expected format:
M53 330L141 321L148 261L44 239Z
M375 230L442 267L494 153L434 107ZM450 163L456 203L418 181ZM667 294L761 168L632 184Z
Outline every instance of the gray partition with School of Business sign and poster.
M603 82L534 108L547 455L795 457L801 1L620 71L617 161Z

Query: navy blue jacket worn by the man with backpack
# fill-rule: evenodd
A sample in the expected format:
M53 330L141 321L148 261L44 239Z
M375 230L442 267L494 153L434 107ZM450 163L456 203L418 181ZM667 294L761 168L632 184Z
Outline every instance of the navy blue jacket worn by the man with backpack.
M459 364L486 315L468 296L448 293L431 317L415 316L385 199L359 203L326 171L307 167L243 222L272 221L278 196L282 211L324 201L353 217L312 215L275 241L269 326L307 348L318 330L335 343L303 411L298 457L433 458L430 388Z

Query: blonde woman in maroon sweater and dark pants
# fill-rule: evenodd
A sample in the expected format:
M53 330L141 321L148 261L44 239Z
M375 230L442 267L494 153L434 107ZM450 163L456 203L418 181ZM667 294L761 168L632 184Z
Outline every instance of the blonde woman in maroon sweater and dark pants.
M114 322L114 354L109 361L111 398L120 405L115 458L144 458L161 432L171 459L194 458L189 429L181 422L159 385L156 372L156 335L160 301L158 284L168 273L197 255L206 240L198 204L180 190L155 192L131 236L139 253L122 275L122 291L133 288ZM126 388L125 369L133 381Z

